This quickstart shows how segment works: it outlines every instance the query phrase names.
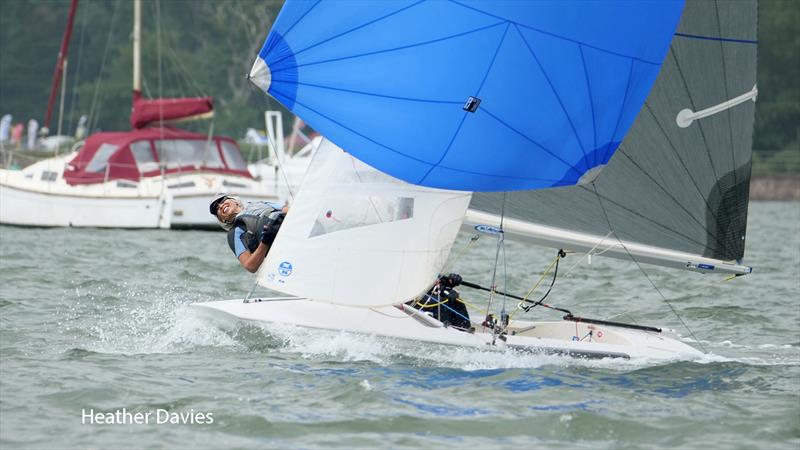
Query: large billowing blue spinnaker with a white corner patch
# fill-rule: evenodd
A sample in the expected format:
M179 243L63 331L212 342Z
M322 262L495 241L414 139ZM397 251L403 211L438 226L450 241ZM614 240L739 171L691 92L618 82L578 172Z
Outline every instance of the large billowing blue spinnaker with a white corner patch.
M290 0L251 79L410 183L572 185L611 159L682 9L682 0Z

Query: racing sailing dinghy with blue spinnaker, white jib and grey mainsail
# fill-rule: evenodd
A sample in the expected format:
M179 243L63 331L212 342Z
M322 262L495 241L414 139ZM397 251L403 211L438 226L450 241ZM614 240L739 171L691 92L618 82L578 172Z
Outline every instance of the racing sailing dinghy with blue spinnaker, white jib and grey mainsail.
M285 295L195 306L482 349L698 357L662 328L502 292L499 255L519 239L558 249L554 263L750 273L756 50L755 2L287 2L251 80L326 140L258 272ZM459 230L496 239L489 286L441 273ZM456 289L488 291L489 314L466 317ZM542 307L562 320L525 319Z

